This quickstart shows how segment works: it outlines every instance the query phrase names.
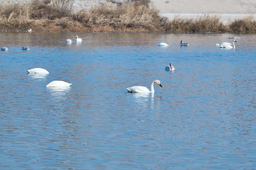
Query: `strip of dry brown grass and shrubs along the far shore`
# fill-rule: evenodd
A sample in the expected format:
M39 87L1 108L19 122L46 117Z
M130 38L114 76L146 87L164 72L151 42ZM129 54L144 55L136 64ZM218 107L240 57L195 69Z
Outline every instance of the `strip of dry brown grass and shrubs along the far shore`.
M255 33L252 16L224 25L217 16L198 19L175 17L169 21L149 7L150 0L92 7L72 13L70 4L50 5L47 0L34 0L25 6L0 6L0 30L22 31L172 31L172 32L241 32Z

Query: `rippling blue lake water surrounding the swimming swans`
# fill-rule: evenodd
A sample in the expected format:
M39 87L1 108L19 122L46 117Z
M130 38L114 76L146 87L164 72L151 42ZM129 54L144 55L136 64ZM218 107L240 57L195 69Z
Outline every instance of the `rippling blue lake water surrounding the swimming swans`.
M65 43L76 34L82 43ZM235 50L215 46L231 36L242 37ZM0 52L1 169L255 169L255 34L0 39L9 49ZM170 61L175 71L165 70ZM50 73L26 73L34 67ZM45 87L56 79L71 88ZM126 93L154 79L163 85L154 94Z

